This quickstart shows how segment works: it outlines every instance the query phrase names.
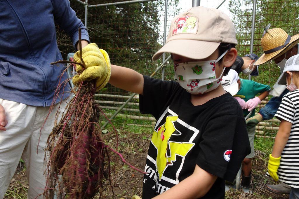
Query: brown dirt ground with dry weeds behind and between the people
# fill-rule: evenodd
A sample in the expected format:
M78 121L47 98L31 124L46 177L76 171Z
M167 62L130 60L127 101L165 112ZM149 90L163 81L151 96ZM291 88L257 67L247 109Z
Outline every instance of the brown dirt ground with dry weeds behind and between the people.
M109 146L116 148L116 138L114 134L104 135ZM151 135L136 134L123 131L119 134L118 151L133 166L143 170L147 157ZM111 166L114 168L112 186L115 194L114 198L131 198L132 195L142 195L143 174L129 168L125 165L118 155L111 153ZM253 160L253 193L247 194L236 190L226 192L225 198L288 198L288 195L277 195L266 190L265 185L273 183L272 180L265 177L267 168L266 154L256 151L256 157ZM108 186L103 191L101 198L112 198L111 188ZM4 198L27 198L26 192L28 183L26 180L25 166L20 163L16 173L10 183L7 195ZM97 196L99 198L99 196Z

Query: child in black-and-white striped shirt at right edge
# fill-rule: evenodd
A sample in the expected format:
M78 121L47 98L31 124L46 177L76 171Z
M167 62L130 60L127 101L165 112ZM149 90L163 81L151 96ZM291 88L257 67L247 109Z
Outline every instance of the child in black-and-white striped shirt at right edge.
M275 116L281 120L272 154L269 156L268 172L274 180L291 186L290 198L299 198L299 55L292 56L283 70L287 93Z

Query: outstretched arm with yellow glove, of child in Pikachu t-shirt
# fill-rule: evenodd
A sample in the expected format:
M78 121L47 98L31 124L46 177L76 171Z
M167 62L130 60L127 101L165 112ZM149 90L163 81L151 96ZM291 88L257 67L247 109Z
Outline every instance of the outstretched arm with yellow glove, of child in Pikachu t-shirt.
M84 42L83 45L85 45ZM75 53L74 62L81 62L79 54L79 51ZM111 65L111 71L109 71L109 56L105 50L99 49L95 43L90 43L82 49L82 57L86 64L86 70L76 64L76 71L79 74L73 78L75 85L75 82L80 83L94 79L96 80L97 88L103 88L107 84L106 79L110 76L109 83L115 87L143 94L143 76L132 69L116 65Z

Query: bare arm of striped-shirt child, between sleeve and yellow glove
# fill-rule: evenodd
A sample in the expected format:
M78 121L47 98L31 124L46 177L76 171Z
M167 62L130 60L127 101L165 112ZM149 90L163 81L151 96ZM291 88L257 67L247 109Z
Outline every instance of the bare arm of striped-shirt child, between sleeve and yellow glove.
M289 139L291 127L292 123L283 119L281 120L278 132L275 137L272 157L277 158L281 156L281 152L283 151L283 148L286 146L286 143Z

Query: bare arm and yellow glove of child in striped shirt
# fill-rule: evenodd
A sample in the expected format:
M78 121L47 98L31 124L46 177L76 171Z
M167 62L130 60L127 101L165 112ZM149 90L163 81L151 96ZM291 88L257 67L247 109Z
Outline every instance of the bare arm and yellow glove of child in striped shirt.
M274 180L278 180L278 167L280 165L280 156L283 148L289 139L292 123L281 119L279 130L275 137L272 154L269 155L268 173Z

